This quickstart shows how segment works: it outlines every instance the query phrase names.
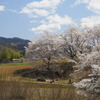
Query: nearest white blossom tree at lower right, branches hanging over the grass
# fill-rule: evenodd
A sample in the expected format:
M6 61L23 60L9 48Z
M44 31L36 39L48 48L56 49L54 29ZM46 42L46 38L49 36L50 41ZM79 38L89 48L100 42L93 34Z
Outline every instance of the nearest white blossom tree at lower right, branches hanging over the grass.
M90 68L88 77L74 83L74 85L77 88L82 88L84 92L100 94L100 52L91 52L84 57L82 56L78 71L86 68ZM83 91L81 90L81 92Z

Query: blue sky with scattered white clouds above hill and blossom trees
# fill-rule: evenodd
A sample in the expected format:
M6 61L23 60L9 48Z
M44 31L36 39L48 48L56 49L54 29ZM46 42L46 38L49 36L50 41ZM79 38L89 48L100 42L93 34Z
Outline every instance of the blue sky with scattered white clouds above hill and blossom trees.
M100 24L100 0L0 0L0 36L33 40L44 31Z

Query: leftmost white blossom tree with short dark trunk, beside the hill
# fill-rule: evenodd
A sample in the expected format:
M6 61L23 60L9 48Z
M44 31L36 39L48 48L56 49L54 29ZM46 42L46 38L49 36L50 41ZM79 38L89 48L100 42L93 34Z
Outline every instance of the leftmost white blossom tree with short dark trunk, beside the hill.
M59 35L45 32L40 38L29 43L26 56L31 60L43 60L47 67L59 56Z

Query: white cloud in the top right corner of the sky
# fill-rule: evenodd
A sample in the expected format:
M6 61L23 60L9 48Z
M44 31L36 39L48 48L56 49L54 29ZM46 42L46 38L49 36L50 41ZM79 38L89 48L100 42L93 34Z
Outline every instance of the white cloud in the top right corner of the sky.
M100 0L77 0L75 5L85 3L87 8L95 13L100 14Z

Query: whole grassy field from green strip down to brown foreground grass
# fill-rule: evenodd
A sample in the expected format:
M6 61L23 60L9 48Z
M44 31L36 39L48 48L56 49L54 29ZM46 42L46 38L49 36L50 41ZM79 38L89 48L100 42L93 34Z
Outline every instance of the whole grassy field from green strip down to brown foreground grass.
M83 100L67 80L50 83L15 76L16 70L32 68L28 63L0 65L0 100ZM93 98L93 97L92 97ZM90 99L91 100L91 99Z

